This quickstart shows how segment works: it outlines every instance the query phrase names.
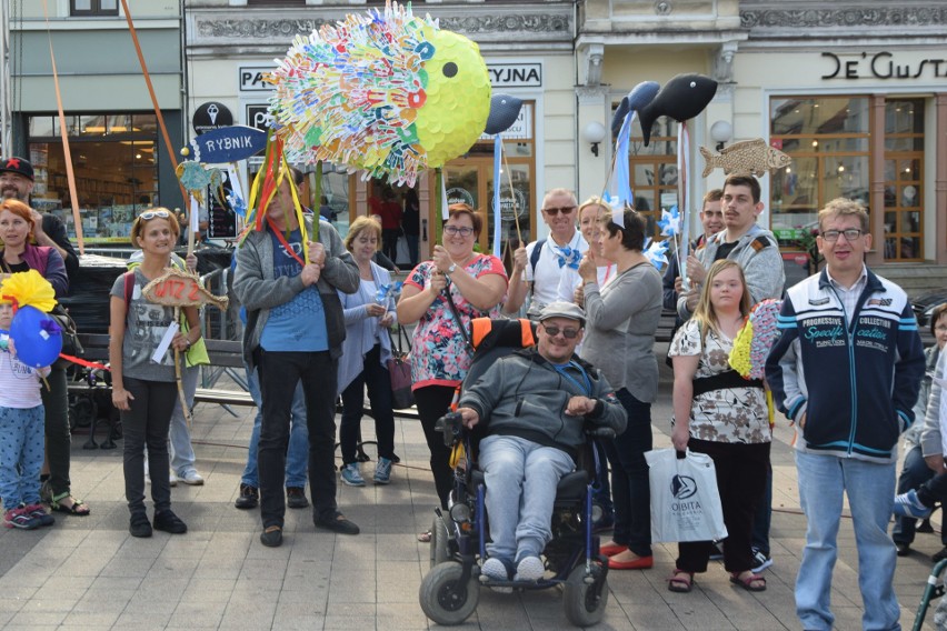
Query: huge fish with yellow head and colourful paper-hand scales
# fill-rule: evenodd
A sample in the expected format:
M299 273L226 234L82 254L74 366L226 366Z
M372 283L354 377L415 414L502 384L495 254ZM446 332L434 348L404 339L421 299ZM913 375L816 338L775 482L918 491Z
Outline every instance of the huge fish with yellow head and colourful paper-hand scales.
M413 186L484 132L490 80L479 48L389 2L297 37L268 80L290 161L326 161Z

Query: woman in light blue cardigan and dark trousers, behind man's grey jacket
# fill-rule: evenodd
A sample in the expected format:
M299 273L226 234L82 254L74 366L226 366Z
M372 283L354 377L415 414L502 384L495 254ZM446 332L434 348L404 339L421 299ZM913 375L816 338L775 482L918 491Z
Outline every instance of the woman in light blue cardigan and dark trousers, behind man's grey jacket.
M378 463L373 480L376 484L388 484L396 458L391 378L387 368L391 359L388 328L398 320L395 313L396 288L388 270L371 260L381 244L381 226L377 221L359 217L349 227L345 242L358 263L360 283L355 293L339 292L346 317L346 341L339 359L338 375L342 395L342 421L339 427L341 478L350 487L365 485L357 450L365 389L368 387L368 400L378 438Z

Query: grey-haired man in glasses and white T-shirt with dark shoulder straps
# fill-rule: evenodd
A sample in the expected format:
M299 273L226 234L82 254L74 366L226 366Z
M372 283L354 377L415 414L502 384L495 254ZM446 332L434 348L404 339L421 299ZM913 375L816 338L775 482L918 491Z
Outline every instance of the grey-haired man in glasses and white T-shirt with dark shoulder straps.
M542 198L542 220L549 226L549 238L520 244L514 253L514 270L504 311L516 313L532 292L527 316L536 320L542 308L559 296L562 270L579 269L582 254L589 249L581 232L576 229L578 202L568 189L552 189Z

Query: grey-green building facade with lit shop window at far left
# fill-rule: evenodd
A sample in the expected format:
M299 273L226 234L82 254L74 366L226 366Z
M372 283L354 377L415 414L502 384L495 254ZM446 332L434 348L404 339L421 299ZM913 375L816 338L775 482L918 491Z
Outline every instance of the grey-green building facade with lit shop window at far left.
M128 6L177 154L183 139L180 3L130 0ZM11 124L2 151L33 163L33 207L60 214L74 236L60 104L86 243L127 244L131 221L142 209L181 207L172 160L118 0L9 0L3 9Z

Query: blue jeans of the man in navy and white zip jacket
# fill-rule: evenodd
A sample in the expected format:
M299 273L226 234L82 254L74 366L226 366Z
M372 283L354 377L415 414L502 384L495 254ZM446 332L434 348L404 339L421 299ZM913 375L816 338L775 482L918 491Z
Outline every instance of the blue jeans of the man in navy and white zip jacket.
M895 497L895 463L796 452L799 500L806 514L806 548L796 578L796 614L804 629L831 629L831 572L843 495L848 494L858 548L863 629L900 629L893 581L897 555L888 537Z

